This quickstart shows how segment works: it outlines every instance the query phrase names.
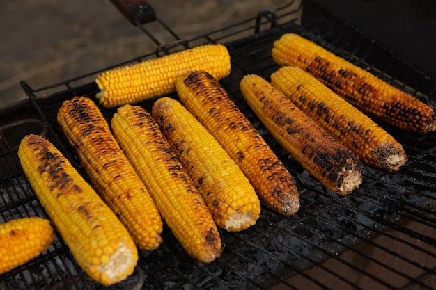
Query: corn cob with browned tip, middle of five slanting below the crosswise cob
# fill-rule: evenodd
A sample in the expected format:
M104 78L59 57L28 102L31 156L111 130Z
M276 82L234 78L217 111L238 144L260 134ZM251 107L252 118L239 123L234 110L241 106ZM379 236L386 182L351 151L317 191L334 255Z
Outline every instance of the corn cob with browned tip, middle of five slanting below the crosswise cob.
M162 218L186 252L203 263L220 257L217 225L150 113L127 104L118 108L111 127Z

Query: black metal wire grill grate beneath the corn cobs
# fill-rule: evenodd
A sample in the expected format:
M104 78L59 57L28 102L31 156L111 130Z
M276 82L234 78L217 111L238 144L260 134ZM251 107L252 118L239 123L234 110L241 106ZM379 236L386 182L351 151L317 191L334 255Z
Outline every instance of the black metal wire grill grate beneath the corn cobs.
M263 207L254 227L238 233L221 231L224 252L212 264L192 261L166 228L164 244L152 252L141 251L134 275L113 287L102 287L86 277L56 236L46 253L0 275L0 289L433 289L436 135L405 134L380 123L405 147L407 165L395 174L366 167L361 187L341 197L310 177L270 136L245 104L239 81L249 73L269 79L277 70L270 57L272 42L283 33L297 32L431 104L435 82L334 18L322 18L324 24L329 19L331 26L321 28L313 23L310 30L304 22L298 25L295 10L289 7L274 13L265 10L258 17L165 49L202 42L227 45L232 72L221 83L296 177L302 206L295 216L283 217ZM412 76L405 78L406 71ZM97 73L36 90L22 82L29 102L0 112L2 120L12 120L26 110L32 115L0 124L0 222L46 216L17 161L17 144L25 134L47 136L81 171L56 123L56 113L64 99L94 97L98 88L86 80ZM141 106L150 108L151 104ZM114 113L114 109L101 109L108 119Z

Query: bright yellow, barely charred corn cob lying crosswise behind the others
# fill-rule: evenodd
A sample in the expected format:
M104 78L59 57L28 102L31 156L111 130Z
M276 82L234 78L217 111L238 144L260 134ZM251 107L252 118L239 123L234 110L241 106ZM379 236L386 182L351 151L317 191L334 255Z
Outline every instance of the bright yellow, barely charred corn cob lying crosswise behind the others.
M174 92L177 76L207 70L217 79L230 73L230 54L224 45L203 45L153 58L98 75L97 98L106 107L134 104Z

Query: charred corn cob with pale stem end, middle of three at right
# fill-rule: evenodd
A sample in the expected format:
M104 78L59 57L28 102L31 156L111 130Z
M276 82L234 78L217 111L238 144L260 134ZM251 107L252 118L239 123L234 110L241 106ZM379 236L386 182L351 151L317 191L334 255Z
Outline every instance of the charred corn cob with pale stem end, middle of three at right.
M308 72L281 67L271 75L271 83L364 163L393 171L407 161L394 137Z

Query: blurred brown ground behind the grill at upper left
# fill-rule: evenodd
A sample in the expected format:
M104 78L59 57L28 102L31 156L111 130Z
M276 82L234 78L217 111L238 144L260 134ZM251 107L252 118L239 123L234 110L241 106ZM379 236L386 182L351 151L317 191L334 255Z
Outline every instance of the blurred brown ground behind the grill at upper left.
M290 0L150 0L157 16L191 38ZM20 86L51 85L153 51L155 44L109 0L2 0L0 106L26 98ZM159 36L159 31L151 31ZM162 36L164 37L164 36ZM159 39L165 43L164 39Z

